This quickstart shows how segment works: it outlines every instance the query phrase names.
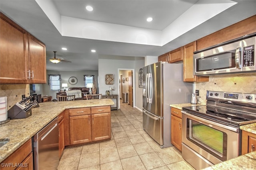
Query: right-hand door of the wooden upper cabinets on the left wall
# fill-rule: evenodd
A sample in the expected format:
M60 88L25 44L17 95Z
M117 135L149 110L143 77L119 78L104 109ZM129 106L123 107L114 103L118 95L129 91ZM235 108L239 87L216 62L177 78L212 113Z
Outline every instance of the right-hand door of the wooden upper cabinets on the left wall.
M30 83L46 83L46 47L28 34Z

